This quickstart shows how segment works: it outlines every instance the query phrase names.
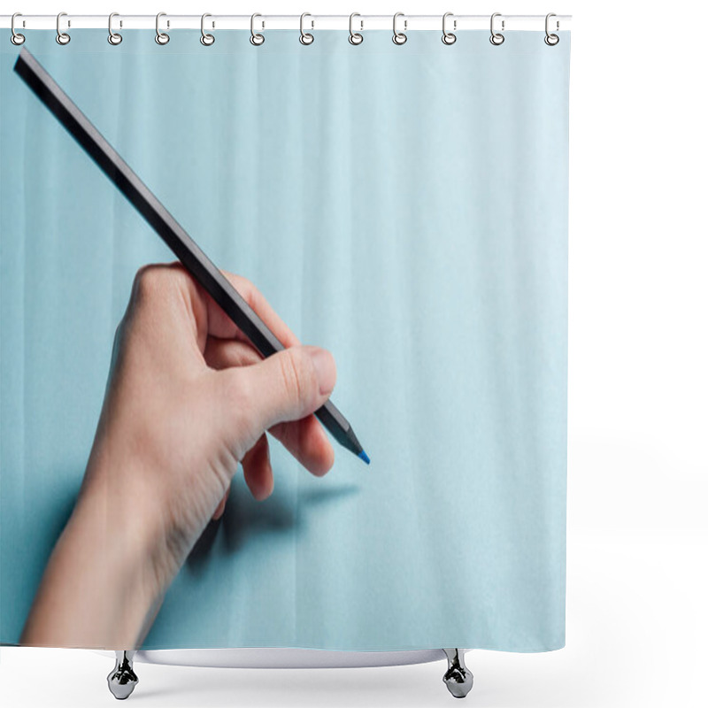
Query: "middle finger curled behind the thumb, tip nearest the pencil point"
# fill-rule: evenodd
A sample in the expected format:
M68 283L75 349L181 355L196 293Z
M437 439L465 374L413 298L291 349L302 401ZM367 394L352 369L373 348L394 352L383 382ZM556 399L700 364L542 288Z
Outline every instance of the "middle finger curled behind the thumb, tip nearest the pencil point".
M249 366L261 361L261 357L250 345L233 339L209 337L204 350L207 366L226 369L229 366ZM335 452L329 443L327 433L318 419L310 414L304 419L279 423L269 429L301 465L313 474L322 475L332 467Z

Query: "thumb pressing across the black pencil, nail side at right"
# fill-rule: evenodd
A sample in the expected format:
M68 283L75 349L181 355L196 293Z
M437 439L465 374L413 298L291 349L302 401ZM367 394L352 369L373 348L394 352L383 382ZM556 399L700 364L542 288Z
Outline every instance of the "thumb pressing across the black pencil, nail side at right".
M325 349L293 346L235 371L242 379L243 404L263 431L276 423L315 412L335 388L335 358Z

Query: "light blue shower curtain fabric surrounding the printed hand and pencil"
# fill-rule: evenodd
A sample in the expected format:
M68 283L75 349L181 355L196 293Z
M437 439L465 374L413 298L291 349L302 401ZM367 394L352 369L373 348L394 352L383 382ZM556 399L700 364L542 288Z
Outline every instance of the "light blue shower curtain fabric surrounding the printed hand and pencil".
M0 642L18 643L89 457L139 266L173 254L0 38ZM237 473L143 647L565 643L570 35L27 32L215 263L335 354L372 458Z

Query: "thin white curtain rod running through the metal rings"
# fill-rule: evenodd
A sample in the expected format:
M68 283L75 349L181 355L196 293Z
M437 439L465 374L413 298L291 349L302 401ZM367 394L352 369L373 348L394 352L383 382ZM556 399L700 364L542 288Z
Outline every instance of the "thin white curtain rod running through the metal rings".
M466 29L486 29L489 31L490 15L450 15L447 27L450 31ZM557 15L552 18L552 30L570 29L571 15ZM11 27L12 15L0 15L0 27ZM545 15L504 15L498 14L495 27L504 30L542 31L545 27ZM388 29L393 27L393 15L356 15L353 18L354 31L367 29ZM155 29L155 15L115 15L112 20L113 31L120 29ZM201 27L201 15L171 15L160 17L160 29L196 29ZM208 29L250 29L250 15L210 15L205 19ZM310 15L304 18L304 29L342 29L350 27L349 15ZM442 31L443 15L402 15L398 24L404 31L438 29ZM70 15L62 14L61 29L106 29L108 15ZM256 28L264 29L299 29L299 15L259 15ZM15 29L57 29L57 15L18 15Z

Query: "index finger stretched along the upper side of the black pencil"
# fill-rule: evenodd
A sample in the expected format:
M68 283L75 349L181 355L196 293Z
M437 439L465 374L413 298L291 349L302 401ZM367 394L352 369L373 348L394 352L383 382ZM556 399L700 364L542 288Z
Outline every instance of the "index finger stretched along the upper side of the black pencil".
M228 273L227 271L221 271L221 273L284 347L292 347L300 343L288 325L273 310L273 307L266 300L266 296L248 278L235 273ZM205 290L203 290L203 293L207 306L207 330L209 334L221 339L235 338L242 340L242 342L250 342L249 338L242 333L241 329L235 325L234 321L221 309L213 297Z

